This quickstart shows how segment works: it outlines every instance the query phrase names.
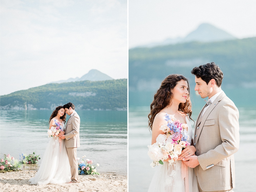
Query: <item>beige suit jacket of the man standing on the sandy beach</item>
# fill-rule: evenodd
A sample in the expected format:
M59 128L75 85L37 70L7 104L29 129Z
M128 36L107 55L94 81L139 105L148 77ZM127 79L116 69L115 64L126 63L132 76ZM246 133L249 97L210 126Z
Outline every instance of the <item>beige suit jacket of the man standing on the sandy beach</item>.
M69 119L65 128L65 145L67 148L80 147L79 138L80 117L75 112Z

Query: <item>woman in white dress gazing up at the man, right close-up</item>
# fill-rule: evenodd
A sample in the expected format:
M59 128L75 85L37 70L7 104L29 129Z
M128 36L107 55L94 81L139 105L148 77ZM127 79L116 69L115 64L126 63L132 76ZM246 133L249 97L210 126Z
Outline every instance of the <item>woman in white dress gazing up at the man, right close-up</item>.
M177 74L167 76L154 95L150 108L148 124L152 130L152 144L156 143L159 134L165 134L160 127L167 125L166 115L174 115L180 123L188 125L187 134L190 138L188 142L191 143L193 133L188 116L191 119L192 111L187 78ZM183 162L180 161L184 157L194 155L195 152L196 148L188 145L174 163L170 164L168 162L170 159L166 159L163 165L156 166L157 170L148 192L198 192L194 169L188 167L187 176L182 177L182 166L185 165L182 165Z

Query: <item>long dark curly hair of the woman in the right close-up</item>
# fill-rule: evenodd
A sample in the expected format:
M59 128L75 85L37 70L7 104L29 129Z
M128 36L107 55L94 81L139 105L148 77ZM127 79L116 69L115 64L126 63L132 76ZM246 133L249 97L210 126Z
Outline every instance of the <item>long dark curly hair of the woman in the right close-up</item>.
M163 82L161 83L160 88L157 90L154 95L154 100L150 105L150 114L148 115L148 126L152 130L153 121L157 113L164 109L167 105L172 104L173 93L172 90L180 80L185 80L188 83L188 97L186 103L179 104L179 111L182 111L189 115L191 119L192 110L191 110L191 101L190 101L190 92L189 92L189 82L188 79L179 74L168 75ZM191 119L192 120L192 119Z

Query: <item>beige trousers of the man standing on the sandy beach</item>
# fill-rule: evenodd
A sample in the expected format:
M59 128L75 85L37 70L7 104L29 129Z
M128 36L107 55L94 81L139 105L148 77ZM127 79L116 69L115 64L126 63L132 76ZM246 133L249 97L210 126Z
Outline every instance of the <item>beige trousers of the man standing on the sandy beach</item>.
M71 182L78 182L78 166L77 166L77 147L67 148L68 160L71 170Z

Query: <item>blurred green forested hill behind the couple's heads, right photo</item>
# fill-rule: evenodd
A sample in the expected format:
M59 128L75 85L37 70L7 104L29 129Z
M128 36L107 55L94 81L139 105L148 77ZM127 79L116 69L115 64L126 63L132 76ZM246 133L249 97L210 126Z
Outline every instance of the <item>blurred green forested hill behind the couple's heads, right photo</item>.
M183 74L215 62L223 71L223 87L256 88L256 37L219 42L190 42L129 50L129 91L156 90L169 74Z

